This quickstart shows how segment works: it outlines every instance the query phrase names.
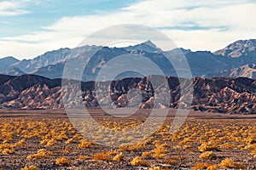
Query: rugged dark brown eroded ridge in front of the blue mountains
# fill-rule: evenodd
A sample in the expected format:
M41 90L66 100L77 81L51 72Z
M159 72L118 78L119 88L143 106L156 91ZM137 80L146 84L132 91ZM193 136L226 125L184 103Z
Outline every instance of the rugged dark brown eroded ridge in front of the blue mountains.
M154 77L158 78L158 77ZM168 88L159 86L152 88L147 77L125 78L113 81L108 86L107 82L102 83L97 90L102 92L109 90L110 100L103 95L96 98L95 82L82 82L79 89L74 89L68 99L72 105L97 107L112 105L113 107L135 106L152 109L154 104L157 108L177 108L178 106L188 107L180 95L180 83L176 77L166 77ZM182 79L187 83L189 79ZM189 106L195 111L213 111L236 114L256 114L256 81L248 78L212 78L205 79L196 77L193 84L194 98ZM72 82L73 84L77 82ZM64 92L65 92L65 87ZM169 89L169 90L168 90ZM81 90L81 96L78 95ZM166 91L170 94L170 103L154 103L155 90ZM139 92L141 98L133 98ZM189 92L188 92L189 93ZM192 93L192 92L191 92ZM61 79L49 79L32 75L10 77L0 75L0 107L16 109L56 109L63 107L62 104ZM65 94L67 95L67 94ZM159 96L166 98L165 96ZM78 100L78 99L81 100ZM76 103L77 102L77 103ZM105 102L105 103L104 103ZM69 103L66 103L69 105ZM101 106L102 106L101 105Z

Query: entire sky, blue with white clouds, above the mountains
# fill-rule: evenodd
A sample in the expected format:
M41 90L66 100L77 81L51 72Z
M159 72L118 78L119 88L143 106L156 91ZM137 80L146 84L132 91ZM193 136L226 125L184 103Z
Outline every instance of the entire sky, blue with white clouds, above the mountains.
M0 0L0 58L75 48L108 26L137 24L177 47L216 51L256 38L255 0Z

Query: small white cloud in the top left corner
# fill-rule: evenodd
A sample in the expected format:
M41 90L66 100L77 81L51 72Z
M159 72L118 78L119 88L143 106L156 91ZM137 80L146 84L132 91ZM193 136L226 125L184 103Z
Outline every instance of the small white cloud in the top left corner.
M13 16L20 14L28 14L29 11L20 8L20 2L3 1L0 2L0 15Z

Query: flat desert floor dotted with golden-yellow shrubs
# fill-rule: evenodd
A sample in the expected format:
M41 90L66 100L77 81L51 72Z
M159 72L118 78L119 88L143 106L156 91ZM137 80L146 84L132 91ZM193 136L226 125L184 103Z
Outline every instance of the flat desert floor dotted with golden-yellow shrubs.
M170 133L172 110L156 132L136 141L132 133L121 140L114 132L139 126L150 110L125 118L89 112L112 133L83 121L79 133L64 110L0 110L0 169L256 169L256 115L190 111L182 127ZM77 111L74 117L86 116ZM87 139L90 130L101 144Z

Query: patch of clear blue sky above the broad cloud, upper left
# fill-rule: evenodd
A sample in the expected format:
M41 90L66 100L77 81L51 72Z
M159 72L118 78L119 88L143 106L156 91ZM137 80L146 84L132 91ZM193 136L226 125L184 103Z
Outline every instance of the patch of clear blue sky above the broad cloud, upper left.
M1 1L0 1L1 2ZM0 15L0 37L13 37L32 31L43 31L63 16L90 15L123 8L135 0L42 0L9 1L17 3L24 14ZM3 3L3 2L2 2ZM1 3L0 3L1 5ZM19 8L17 8L20 10ZM10 11L13 9L9 9Z

